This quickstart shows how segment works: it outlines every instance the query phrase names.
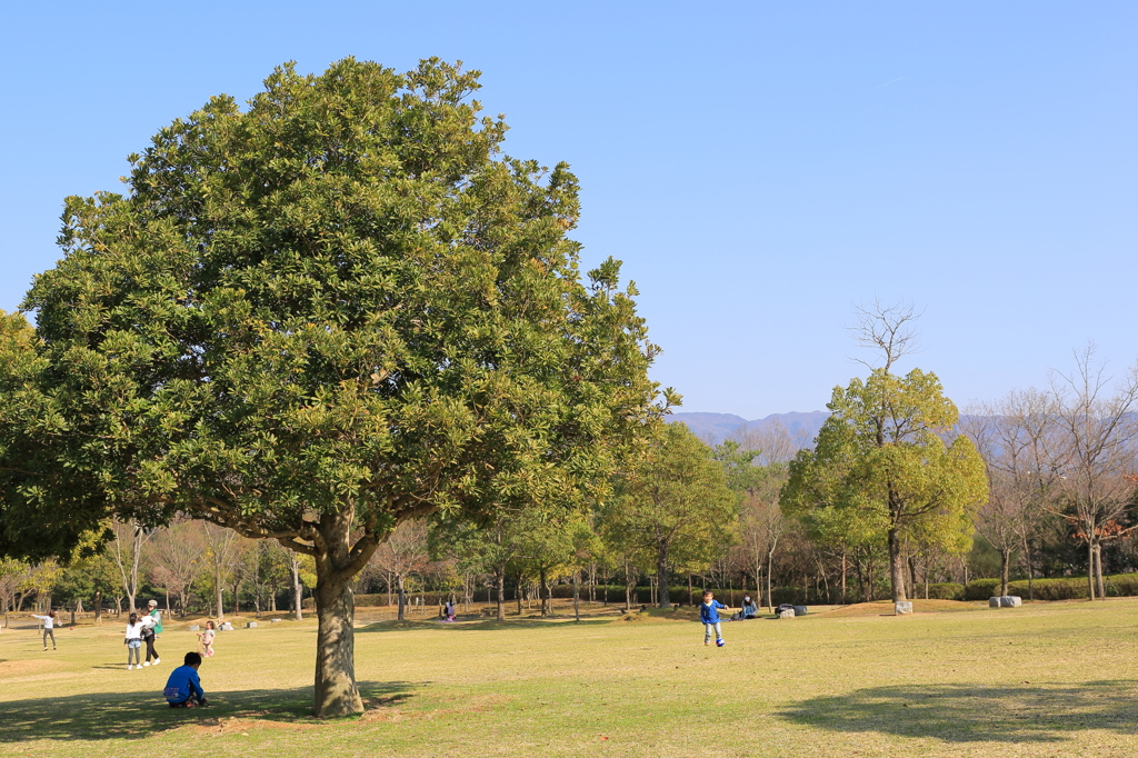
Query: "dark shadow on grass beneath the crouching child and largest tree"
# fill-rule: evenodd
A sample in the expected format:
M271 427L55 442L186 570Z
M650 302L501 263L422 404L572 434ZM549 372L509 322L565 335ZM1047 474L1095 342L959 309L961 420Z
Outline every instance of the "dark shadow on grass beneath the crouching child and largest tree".
M368 711L381 712L414 697L407 682L360 682ZM27 740L132 740L222 719L323 724L312 715L313 690L206 692L208 708L170 708L160 694L115 692L0 702L0 744ZM331 722L335 723L335 722Z

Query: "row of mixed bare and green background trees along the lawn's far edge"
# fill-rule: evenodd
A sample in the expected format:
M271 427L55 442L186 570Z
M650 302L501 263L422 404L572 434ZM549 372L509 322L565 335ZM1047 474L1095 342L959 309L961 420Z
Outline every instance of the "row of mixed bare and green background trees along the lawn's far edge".
M901 535L909 596L980 577L999 578L1006 593L1017 577L1085 575L1090 596L1102 598L1106 575L1138 570L1136 402L1133 373L1113 385L1088 348L1046 389L970 407L955 428L983 462L988 496L964 511L966 524L933 519ZM802 450L817 448L778 422L743 427L718 445L667 425L653 462L621 478L605 503L574 516L528 508L485 524L404 522L355 591L396 605L401 618L406 599L424 593L468 609L495 603L500 618L510 603L552 613L553 596L567 590L625 605L691 602L686 592L673 596L677 586L750 590L765 604L889 596L880 529L833 508L787 503ZM311 558L207 522L115 524L114 532L109 550L67 567L6 559L0 604L121 612L146 595L180 613L302 613L315 583Z

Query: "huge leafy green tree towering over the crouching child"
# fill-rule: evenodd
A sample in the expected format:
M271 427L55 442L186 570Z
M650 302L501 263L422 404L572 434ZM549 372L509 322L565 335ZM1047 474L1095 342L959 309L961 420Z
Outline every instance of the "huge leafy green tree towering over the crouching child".
M658 413L655 348L616 262L582 281L574 175L502 156L477 89L436 59L284 66L159 131L125 195L68 198L34 338L5 327L0 552L182 513L311 555L339 716L349 585L398 524L603 491Z

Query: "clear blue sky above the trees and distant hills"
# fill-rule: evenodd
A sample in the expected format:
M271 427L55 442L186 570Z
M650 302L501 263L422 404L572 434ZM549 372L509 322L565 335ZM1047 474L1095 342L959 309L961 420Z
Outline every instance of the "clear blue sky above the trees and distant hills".
M960 404L1088 338L1138 356L1138 3L13 1L0 28L0 308L63 198L211 94L436 55L484 72L510 154L572 165L586 262L625 261L684 410L820 409L875 296L925 308L908 365Z

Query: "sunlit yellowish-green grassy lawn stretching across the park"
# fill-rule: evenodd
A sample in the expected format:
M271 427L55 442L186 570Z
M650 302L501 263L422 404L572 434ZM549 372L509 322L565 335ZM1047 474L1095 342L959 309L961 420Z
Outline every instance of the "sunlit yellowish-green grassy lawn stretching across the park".
M666 618L363 623L368 712L331 723L308 716L312 621L221 634L203 710L160 700L195 648L184 624L167 624L158 670L134 672L117 623L61 629L56 652L5 629L0 752L1138 755L1138 600L924 608L725 624L723 649Z

